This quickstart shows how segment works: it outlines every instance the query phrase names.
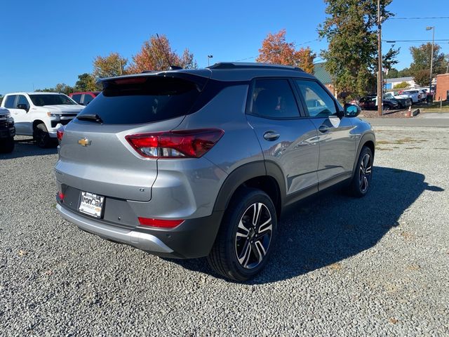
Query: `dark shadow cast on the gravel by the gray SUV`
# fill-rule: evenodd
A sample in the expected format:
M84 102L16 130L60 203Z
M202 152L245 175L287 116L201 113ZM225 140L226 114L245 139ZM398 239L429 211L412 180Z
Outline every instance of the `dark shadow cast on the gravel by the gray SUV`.
M301 202L281 218L274 254L264 270L247 283L290 279L370 249L398 225L401 214L422 192L443 191L424 180L421 173L375 166L373 185L364 198L331 192ZM206 258L171 261L220 277Z

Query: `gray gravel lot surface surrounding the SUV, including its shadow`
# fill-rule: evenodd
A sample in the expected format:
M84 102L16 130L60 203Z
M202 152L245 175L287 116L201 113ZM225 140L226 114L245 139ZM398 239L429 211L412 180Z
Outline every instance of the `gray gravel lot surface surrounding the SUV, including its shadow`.
M0 155L0 336L448 336L448 129L377 138L370 194L298 206L247 284L77 230L56 150L22 138Z

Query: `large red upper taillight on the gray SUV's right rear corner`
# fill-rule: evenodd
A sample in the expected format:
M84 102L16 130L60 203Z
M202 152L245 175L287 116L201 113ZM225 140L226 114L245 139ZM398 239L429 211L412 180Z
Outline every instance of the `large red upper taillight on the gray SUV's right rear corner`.
M199 130L140 133L126 136L128 143L147 158L199 158L210 150L220 138L217 128Z

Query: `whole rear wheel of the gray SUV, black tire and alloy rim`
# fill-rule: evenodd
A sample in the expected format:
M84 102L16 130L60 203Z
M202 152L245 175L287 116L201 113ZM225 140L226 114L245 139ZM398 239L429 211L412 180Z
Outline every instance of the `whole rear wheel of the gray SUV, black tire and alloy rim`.
M254 220L254 214L259 214ZM255 188L238 190L227 207L208 263L237 282L263 269L276 242L277 216L272 199Z

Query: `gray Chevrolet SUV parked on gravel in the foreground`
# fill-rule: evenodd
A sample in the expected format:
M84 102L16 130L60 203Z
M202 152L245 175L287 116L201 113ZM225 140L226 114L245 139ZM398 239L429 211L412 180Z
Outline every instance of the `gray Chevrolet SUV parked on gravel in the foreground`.
M342 183L369 190L375 135L299 68L217 63L102 80L67 124L60 214L158 256L208 256L244 281L267 263L287 206Z

